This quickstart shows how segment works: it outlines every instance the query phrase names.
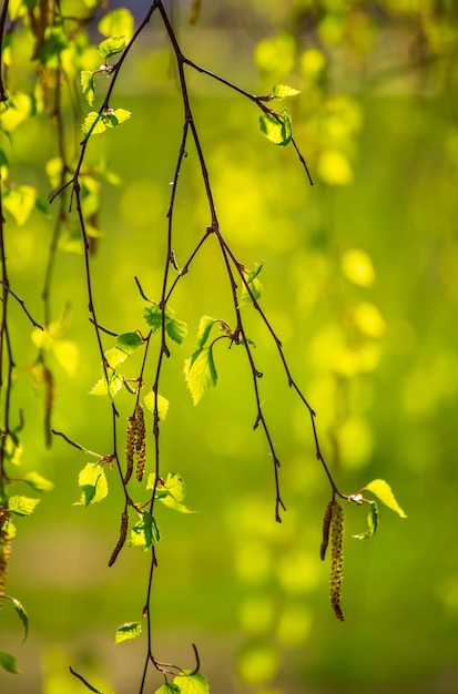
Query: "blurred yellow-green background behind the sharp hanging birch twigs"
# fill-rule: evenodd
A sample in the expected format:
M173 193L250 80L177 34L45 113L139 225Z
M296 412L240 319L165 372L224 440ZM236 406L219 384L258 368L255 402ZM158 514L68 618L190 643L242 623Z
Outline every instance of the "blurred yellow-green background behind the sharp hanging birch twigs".
M195 643L211 691L222 694L451 694L458 691L455 3L216 4L204 0L195 25L187 3L174 4L183 50L253 93L276 83L302 90L286 105L314 178L311 187L292 146L263 137L254 104L189 71L222 233L246 267L264 261L262 306L317 411L339 489L354 493L384 478L408 518L380 504L378 533L359 542L352 534L365 529L365 509L345 509L346 622L339 623L328 604L328 562L319 560L328 483L307 411L250 306L243 314L282 461L282 524L272 459L262 431L253 431L242 350L216 349L217 387L196 407L186 389L183 361L200 317L233 323L230 285L210 238L171 300L190 335L164 367L161 394L171 406L161 451L164 473L183 476L186 503L197 512L157 510L155 655L192 667ZM146 330L134 275L151 298L161 290L183 113L157 19L113 98L132 119L94 137L88 151L89 165L106 157L122 181L102 184L103 237L92 257L98 318L115 333ZM102 93L103 76L99 85ZM16 180L44 193L53 134L51 122L30 120L11 149ZM197 164L190 146L175 215L180 265L210 223ZM52 221L37 213L14 228L8 218L7 229L11 284L40 318ZM70 305L64 339L79 355L73 371L52 364L53 426L103 455L111 451L111 410L89 395L100 366L81 254L59 252L53 286L54 317ZM28 374L37 347L19 306L11 310L23 467L55 489L18 522L8 592L24 604L30 635L21 645L17 615L3 605L0 647L17 654L22 675L0 672L0 690L80 692L72 665L105 692L135 692L144 640L114 646L114 632L141 618L149 555L125 548L108 569L123 504L115 471L108 472L104 501L72 506L88 458L62 439L45 449L43 394ZM112 345L106 337L105 349ZM153 355L156 349L157 341ZM135 375L139 365L126 371ZM146 380L153 366L154 357ZM132 398L122 392L116 402L125 418Z

